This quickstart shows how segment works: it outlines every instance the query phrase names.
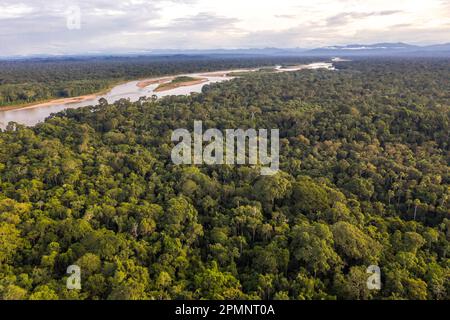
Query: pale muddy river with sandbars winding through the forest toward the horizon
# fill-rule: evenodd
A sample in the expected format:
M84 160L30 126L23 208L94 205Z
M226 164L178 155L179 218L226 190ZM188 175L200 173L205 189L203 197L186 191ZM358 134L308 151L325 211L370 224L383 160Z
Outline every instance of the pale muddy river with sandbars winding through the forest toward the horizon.
M293 67L282 68L281 66L276 66L277 72L292 72L299 71L303 69L320 69L325 68L328 70L334 70L334 66L332 63L327 62L315 62L307 65L299 65ZM108 93L103 95L92 95L88 98L79 97L78 99L82 99L78 102L67 102L67 100L77 99L59 99L54 100L47 103L38 103L35 105L27 106L19 109L12 110L0 110L0 128L5 129L6 125L13 121L27 126L33 126L39 122L44 121L47 117L49 117L52 113L60 112L64 109L69 108L81 108L90 105L96 105L100 98L105 98L109 103L113 103L119 99L125 98L130 99L130 101L137 101L140 97L143 96L152 96L156 95L158 98L169 96L169 95L189 95L191 93L197 92L200 93L202 91L203 86L216 82L223 82L233 79L233 77L229 77L226 73L230 72L252 72L257 71L258 69L239 69L239 70L226 70L226 71L214 71L214 72L205 72L205 73L192 73L192 74L182 74L180 76L189 76L194 78L203 78L206 79L204 82L200 84L194 84L190 86L178 87L170 90L155 92L154 90L159 86L158 83L151 84L144 88L140 88L138 83L141 81L130 81L124 84L120 84L112 88ZM221 74L222 73L222 74ZM155 78L162 79L167 78ZM152 78L153 79L153 78ZM169 80L170 81L170 80ZM62 102L63 101L63 102Z

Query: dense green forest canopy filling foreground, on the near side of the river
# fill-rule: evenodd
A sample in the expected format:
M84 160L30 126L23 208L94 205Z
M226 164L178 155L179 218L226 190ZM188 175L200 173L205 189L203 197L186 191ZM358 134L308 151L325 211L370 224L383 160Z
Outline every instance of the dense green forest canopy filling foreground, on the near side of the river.
M10 124L0 297L450 299L450 60L336 66ZM280 172L173 165L194 120L278 128Z

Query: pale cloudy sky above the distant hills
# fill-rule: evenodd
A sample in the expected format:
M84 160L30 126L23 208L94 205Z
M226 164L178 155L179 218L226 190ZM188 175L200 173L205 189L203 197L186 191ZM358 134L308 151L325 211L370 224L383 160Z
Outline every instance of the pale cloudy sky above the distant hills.
M0 56L398 41L450 42L450 0L0 0Z

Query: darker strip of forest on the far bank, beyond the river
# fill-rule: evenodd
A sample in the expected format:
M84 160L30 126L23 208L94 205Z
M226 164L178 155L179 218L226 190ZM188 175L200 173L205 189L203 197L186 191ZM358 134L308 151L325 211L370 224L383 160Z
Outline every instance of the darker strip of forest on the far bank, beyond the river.
M0 61L0 107L96 93L145 77L310 62L265 56L142 56Z

